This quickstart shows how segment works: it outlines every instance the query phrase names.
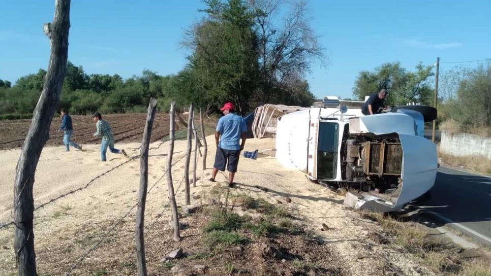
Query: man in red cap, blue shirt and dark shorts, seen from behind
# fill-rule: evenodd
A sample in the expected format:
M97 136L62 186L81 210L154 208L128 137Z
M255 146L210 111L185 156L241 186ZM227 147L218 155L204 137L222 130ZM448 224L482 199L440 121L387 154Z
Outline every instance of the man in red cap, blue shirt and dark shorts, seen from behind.
M220 109L225 116L220 118L215 132L215 142L217 144L217 153L215 154L215 163L210 181L214 182L219 170L224 171L228 163L229 186L234 185L234 176L237 171L240 151L244 149L247 126L244 118L234 114L234 105L226 102ZM239 140L242 139L241 143Z

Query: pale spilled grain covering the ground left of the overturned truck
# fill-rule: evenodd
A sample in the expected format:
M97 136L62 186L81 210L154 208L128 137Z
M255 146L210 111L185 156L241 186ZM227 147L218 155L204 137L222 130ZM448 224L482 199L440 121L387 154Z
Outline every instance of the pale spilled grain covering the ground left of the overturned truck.
M210 221L216 219L213 217L216 209L183 217L181 222L186 226L181 231L183 240L180 243L172 240L171 232L167 229L170 212L167 183L163 177L168 144L153 143L150 145L153 149L150 150L149 192L145 213L149 274L172 275L179 266L196 273L200 273L198 270L205 266L203 269L206 269L207 275L434 274L414 261L409 252L387 247L370 238L374 231L383 232L382 227L356 211L345 209L342 205L343 196L308 181L300 171L285 169L274 157L265 154L260 154L257 160L241 157L234 188L227 188L225 174L219 174L216 183L209 182L207 179L216 148L213 136L208 136L207 142L212 145L208 149L208 168L198 171L200 179L196 188L192 188L192 203L210 204L214 201L218 204L218 210L231 210L227 212L240 216L242 228L238 227L240 229L236 231L244 239L235 241L241 247L237 248L231 242L232 249L224 247L218 248L218 251L206 250L205 245L212 238L206 233L206 227L209 228ZM139 154L137 143L116 146L126 149L130 156ZM257 149L261 152L273 149L274 146L273 139L248 140L245 150ZM105 237L114 224L120 222L74 273L134 275L135 209L132 207L138 196L138 158L128 161L122 155L108 153L108 162L103 163L100 161L99 145L85 147L87 152L64 152L63 147L46 147L41 155L34 186L35 206L80 188L96 176L104 175L86 188L48 203L35 212L39 272L42 275L66 273L85 252ZM0 151L0 190L4 191L0 194L2 224L12 220L11 191L19 152L19 149ZM177 141L173 179L181 208L185 202L185 185L182 184L182 157L185 152L186 141ZM201 168L201 160L198 164ZM282 210L280 213L284 217L264 228L280 230L275 234L261 230L264 220L259 217L268 217L264 211L261 213L261 205L247 208L244 198L249 198L249 202L252 198L257 200L254 201L256 203L274 206L274 210ZM217 203L217 200L222 203ZM125 217L126 214L129 215ZM257 235L261 231L263 235ZM0 229L2 275L9 275L15 268L12 238L13 226ZM184 258L165 262L163 258L176 248L183 249Z

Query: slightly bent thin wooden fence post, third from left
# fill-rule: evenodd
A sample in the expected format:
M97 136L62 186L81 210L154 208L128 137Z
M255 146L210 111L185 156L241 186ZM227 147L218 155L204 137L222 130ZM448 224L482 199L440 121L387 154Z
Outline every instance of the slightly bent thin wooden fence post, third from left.
M172 155L174 153L174 111L175 101L170 104L170 127L169 127L169 154L167 154L167 184L169 185L169 204L172 211L172 219L174 222L174 240L179 241L181 237L179 236L179 215L177 214L177 204L175 203L174 197L174 185L172 184Z

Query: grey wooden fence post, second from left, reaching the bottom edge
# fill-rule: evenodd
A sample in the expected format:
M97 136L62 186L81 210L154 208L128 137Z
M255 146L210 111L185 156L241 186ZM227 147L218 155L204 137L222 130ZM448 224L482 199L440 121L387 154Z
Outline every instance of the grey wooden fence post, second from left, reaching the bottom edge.
M138 209L136 210L135 240L136 260L138 264L138 275L146 276L145 240L143 225L145 219L146 192L148 187L148 146L154 125L155 112L157 111L157 100L150 98L146 115L145 129L140 147L140 191L138 192Z

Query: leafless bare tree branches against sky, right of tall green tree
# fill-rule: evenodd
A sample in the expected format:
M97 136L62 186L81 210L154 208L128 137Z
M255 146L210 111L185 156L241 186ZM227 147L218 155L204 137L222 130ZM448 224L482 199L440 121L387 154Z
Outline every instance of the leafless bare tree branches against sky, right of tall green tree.
M277 17L285 4L291 5L291 10L279 20ZM256 12L259 62L266 83L285 85L289 78L309 72L314 59L327 65L324 49L310 26L312 18L308 16L306 2L257 0L251 5Z

